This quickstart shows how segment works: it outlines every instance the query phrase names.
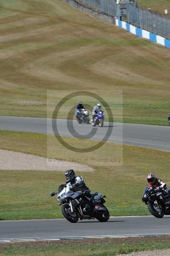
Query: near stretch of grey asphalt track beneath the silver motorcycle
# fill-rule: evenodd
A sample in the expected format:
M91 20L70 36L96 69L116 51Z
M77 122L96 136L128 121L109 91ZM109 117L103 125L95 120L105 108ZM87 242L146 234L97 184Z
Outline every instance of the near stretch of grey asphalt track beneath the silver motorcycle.
M0 241L170 235L170 217L110 217L107 222L66 219L0 221Z

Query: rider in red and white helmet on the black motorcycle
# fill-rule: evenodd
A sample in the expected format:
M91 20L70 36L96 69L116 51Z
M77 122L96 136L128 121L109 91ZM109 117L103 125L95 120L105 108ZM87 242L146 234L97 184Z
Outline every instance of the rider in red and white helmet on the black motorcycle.
M153 173L149 173L147 175L147 188L150 189L151 187L156 188L156 189L164 189L167 193L167 195L170 195L170 189L167 188L167 184L164 183L163 180L158 179Z

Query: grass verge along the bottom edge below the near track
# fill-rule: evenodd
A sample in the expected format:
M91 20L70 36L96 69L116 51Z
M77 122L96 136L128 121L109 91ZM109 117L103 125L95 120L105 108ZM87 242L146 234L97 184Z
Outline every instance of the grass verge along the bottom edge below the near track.
M113 256L147 250L170 248L169 236L120 239L88 239L0 244L0 256Z

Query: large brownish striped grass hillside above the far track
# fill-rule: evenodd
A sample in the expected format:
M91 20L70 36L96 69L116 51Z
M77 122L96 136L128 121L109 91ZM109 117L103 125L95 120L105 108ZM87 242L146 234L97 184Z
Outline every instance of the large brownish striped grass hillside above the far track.
M167 125L169 49L63 1L2 0L0 23L0 115L46 117L46 90L118 89L124 122Z

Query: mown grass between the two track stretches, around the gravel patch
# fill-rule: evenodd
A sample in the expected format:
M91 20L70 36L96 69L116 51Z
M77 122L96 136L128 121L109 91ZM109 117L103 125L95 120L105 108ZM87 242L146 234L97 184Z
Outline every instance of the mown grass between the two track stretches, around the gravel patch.
M46 156L45 135L0 131L0 137L1 149ZM47 139L51 144L48 157L69 157L68 151L55 137L48 136ZM78 139L65 139L72 145L78 144ZM86 143L93 145L94 141ZM92 156L109 157L112 156L113 148L116 150L119 147L114 143L106 143L92 152ZM81 153L81 157L89 157L89 153ZM92 192L100 191L107 196L106 206L110 215L150 214L141 201L148 172L154 172L170 186L169 152L124 145L123 166L113 166L112 163L88 165L93 167L93 172L80 170L78 174L84 177ZM57 191L58 185L65 182L63 172L1 170L0 180L0 219L63 217L61 207L55 198L50 197L50 193Z

